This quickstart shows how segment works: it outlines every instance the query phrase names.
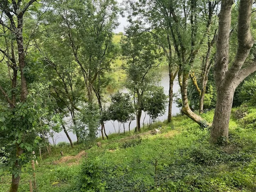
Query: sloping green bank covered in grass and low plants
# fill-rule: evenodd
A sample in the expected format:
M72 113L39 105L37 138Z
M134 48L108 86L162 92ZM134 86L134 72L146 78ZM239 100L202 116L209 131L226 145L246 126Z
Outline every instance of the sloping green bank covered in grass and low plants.
M214 111L202 116L212 122ZM151 131L158 126L161 134ZM176 116L172 124L157 122L140 134L112 134L101 147L57 147L51 157L38 159L34 191L255 192L256 130L245 127L233 114L228 144L212 146L207 128ZM19 192L29 191L29 180L32 174L24 171ZM8 174L0 178L0 192L10 181Z

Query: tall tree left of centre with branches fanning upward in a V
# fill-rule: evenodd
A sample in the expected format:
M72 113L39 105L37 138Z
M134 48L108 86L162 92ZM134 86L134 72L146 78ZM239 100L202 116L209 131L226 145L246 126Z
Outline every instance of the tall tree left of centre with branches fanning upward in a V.
M52 6L54 11L49 21L54 18L54 28L59 29L63 40L61 46L71 48L70 54L84 79L89 106L94 106L93 86L100 74L109 71L118 55L112 41L113 30L118 25L117 3L115 0L60 0ZM97 99L99 102L99 97ZM99 108L101 112L101 106Z

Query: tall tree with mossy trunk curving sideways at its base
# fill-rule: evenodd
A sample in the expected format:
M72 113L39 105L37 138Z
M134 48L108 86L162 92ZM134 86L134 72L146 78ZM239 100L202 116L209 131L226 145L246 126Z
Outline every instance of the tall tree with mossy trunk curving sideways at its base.
M214 5L216 1L207 1L207 3ZM211 21L209 22L208 18L212 18L214 12L207 10L206 13L202 14L201 10L206 6L205 1L170 1L169 6L172 21L172 42L179 64L178 80L182 95L182 112L202 125L205 122L204 119L195 114L189 106L188 80L196 56L198 56L211 26Z

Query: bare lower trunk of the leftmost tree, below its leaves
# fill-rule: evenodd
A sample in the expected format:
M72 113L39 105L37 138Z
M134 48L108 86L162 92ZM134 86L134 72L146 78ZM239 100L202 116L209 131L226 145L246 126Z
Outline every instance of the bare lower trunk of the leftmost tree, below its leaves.
M23 153L23 150L19 147L19 144L16 144L16 158L18 158L22 153ZM14 163L14 168L17 170L17 172L21 171L21 166L18 160L16 160L16 162ZM20 183L20 175L18 174L15 177L15 174L12 174L12 183L11 183L9 192L18 192L19 183Z

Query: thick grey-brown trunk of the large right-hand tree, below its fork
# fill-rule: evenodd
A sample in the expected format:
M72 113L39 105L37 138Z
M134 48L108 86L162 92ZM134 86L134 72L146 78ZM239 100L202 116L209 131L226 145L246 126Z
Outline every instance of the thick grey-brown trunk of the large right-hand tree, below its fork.
M232 109L235 88L217 90L217 103L212 123L210 142L223 144L228 140L228 125Z

